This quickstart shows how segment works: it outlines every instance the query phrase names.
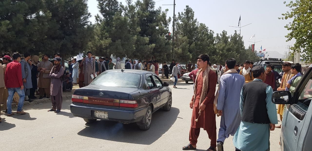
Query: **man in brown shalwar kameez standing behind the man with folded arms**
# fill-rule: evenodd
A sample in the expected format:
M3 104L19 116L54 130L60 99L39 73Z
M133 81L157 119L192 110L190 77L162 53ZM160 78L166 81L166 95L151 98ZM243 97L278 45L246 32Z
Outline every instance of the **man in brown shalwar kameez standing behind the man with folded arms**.
M46 98L50 98L50 85L51 85L51 78L49 77L49 73L53 67L53 64L49 61L49 55L45 54L43 56L42 62L40 62L37 70L39 72L39 81L38 81L38 88L39 88L39 95L40 98L43 98L44 94L46 94Z

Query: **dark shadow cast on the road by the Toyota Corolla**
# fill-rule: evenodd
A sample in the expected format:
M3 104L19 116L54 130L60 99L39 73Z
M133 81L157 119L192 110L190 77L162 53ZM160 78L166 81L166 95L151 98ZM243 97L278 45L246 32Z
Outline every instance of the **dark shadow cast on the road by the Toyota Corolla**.
M162 109L153 113L152 125L149 130L140 130L135 123L122 124L114 121L97 120L95 123L86 123L85 129L78 132L78 135L125 142L132 144L152 144L166 132L177 120L180 110L171 108L170 111ZM81 121L83 122L83 120Z

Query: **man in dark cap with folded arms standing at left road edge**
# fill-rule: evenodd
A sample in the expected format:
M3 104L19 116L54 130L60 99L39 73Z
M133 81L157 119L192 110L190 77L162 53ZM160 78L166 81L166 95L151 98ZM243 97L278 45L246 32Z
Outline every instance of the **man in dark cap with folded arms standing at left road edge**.
M55 113L61 112L63 102L63 83L62 76L64 74L64 68L61 66L62 59L55 57L54 66L51 69L49 77L51 78L51 102L52 108L48 112L54 111Z

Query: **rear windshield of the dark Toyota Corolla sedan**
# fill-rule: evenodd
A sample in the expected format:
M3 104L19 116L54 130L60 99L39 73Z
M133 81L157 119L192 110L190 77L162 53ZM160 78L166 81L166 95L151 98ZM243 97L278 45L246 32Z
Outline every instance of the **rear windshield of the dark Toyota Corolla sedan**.
M141 75L136 73L106 71L96 77L91 85L138 88L140 81Z

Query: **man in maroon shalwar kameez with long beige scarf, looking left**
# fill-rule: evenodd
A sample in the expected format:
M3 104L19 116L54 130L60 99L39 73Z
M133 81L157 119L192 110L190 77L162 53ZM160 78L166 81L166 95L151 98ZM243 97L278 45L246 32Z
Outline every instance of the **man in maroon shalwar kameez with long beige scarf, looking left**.
M190 102L190 108L193 109L191 119L191 129L189 133L190 143L184 146L183 150L196 149L197 138L200 128L207 131L211 140L210 147L207 150L216 151L217 147L217 127L216 115L213 110L213 101L215 98L217 75L208 67L209 56L201 54L197 57L197 72L194 95Z

